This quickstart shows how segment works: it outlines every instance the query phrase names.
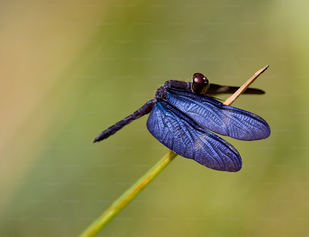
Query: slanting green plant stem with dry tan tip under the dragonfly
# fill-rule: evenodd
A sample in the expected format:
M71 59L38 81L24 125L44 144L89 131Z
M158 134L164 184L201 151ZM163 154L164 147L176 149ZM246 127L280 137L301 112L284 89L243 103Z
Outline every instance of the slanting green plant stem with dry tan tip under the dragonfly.
M245 91L254 80L262 74L269 65L257 71L246 83L243 84L233 95L231 95L224 104L231 105L235 99ZM139 180L137 180L125 193L118 197L114 203L108 207L94 222L92 222L79 237L90 237L98 234L104 226L108 224L122 209L124 209L134 197L155 178L164 167L166 167L175 157L176 153L170 151L160 159L149 171L147 171Z

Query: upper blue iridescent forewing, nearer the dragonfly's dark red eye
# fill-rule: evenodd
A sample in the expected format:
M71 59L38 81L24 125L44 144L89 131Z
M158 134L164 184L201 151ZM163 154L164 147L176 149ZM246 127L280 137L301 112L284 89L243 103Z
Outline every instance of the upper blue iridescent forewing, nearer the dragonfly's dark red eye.
M190 91L168 88L166 100L202 127L243 141L268 138L269 125L260 116Z

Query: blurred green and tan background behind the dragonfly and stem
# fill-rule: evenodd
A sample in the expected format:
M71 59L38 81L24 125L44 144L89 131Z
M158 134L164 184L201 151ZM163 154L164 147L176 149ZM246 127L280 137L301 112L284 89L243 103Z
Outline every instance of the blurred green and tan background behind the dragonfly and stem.
M307 1L1 1L0 235L76 236L167 148L144 116L104 129L165 81L240 86L266 140L226 138L237 173L177 156L99 236L305 236ZM220 96L226 99L226 95Z

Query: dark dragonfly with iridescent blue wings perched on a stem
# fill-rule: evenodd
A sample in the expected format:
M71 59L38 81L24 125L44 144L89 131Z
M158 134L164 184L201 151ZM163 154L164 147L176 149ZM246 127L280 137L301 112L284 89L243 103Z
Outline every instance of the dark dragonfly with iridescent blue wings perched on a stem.
M176 154L218 171L236 172L242 167L239 152L215 133L243 141L268 138L270 127L260 116L218 101L214 95L234 93L239 87L209 83L201 73L192 82L169 80L155 97L137 111L99 134L99 142L135 119L149 114L147 129ZM247 88L243 94L264 94Z

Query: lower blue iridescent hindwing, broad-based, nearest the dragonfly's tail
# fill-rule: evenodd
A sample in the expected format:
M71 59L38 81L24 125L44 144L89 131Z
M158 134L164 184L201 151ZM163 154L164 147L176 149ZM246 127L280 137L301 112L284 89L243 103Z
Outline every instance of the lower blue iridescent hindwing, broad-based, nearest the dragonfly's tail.
M164 146L205 167L229 172L242 167L234 146L190 120L164 99L153 107L147 128Z

